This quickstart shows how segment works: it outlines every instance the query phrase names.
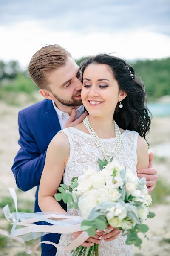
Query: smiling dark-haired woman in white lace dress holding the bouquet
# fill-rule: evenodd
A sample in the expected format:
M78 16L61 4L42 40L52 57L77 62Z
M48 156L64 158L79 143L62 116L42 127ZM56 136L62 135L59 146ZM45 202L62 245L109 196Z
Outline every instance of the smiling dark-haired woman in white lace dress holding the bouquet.
M38 195L43 212L81 215L74 208L65 212L54 194L62 177L68 184L88 166L99 169L98 158L109 161L113 157L131 172L148 166L145 135L150 129L150 116L144 105L144 85L136 79L133 67L120 58L102 54L85 60L81 70L82 103L89 115L76 127L59 131L48 146ZM94 132L95 139L91 136ZM62 234L59 245L66 246L80 233ZM105 231L96 230L82 246L99 244L100 256L133 255L132 246L125 240L120 230L108 226ZM56 255L70 253L57 250Z

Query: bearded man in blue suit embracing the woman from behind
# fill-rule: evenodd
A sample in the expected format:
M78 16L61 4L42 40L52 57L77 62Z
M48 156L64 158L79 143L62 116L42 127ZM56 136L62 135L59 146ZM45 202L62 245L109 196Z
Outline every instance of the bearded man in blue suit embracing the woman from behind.
M27 191L37 186L35 212L40 212L38 189L48 145L58 131L78 125L87 113L84 113L81 101L81 73L66 49L57 44L42 47L31 58L29 73L45 99L18 114L20 149L14 159L12 172L21 190ZM149 168L138 170L138 177L146 177L149 191L152 191L156 185L157 171L152 168L152 153L149 158ZM61 201L60 204L66 210L66 204ZM59 234L52 233L42 236L41 241L58 244L59 238ZM41 247L42 256L55 256L56 248L53 245L41 244Z

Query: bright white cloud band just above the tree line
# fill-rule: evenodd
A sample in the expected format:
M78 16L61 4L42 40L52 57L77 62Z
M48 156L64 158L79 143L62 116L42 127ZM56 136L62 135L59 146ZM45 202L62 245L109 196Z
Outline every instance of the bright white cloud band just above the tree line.
M25 21L8 27L0 26L1 58L17 59L26 67L32 55L45 44L56 43L71 52L73 58L110 53L127 60L164 58L170 56L170 37L167 35L131 29L124 32L73 31L54 32L36 21Z

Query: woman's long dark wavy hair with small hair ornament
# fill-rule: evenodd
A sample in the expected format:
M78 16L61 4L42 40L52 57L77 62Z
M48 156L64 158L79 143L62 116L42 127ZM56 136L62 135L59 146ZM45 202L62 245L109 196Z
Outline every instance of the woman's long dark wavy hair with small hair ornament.
M133 67L115 56L100 54L81 63L82 76L85 68L90 64L108 65L119 84L119 89L127 93L122 101L123 108L119 108L119 102L116 105L114 120L120 128L137 131L145 139L150 129L152 115L146 106L144 84L136 78Z

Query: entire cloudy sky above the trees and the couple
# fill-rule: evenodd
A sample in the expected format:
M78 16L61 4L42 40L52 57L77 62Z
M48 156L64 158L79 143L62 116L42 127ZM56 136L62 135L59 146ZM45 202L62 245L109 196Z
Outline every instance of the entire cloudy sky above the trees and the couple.
M170 57L170 0L0 0L0 59L25 68L50 43L75 59Z

